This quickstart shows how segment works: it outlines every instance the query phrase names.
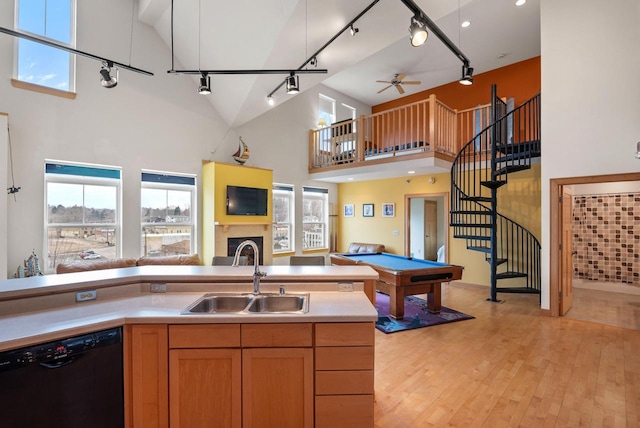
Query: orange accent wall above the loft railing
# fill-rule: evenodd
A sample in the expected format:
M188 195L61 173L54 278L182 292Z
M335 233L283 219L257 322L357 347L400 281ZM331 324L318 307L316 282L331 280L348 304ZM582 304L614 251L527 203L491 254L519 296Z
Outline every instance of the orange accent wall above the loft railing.
M491 98L491 85L494 83L498 86L498 96L513 97L515 106L519 106L540 92L540 57L537 56L474 75L473 85L470 86L461 85L457 81L447 83L417 94L378 104L371 108L371 112L379 113L426 100L431 94L435 94L438 101L442 101L451 108L464 110L478 104L488 103Z

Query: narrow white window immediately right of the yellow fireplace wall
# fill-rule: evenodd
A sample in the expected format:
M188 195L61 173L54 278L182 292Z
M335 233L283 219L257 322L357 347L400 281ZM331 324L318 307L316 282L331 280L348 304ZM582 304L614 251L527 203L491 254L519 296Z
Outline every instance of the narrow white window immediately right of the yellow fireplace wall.
M294 193L288 184L273 185L273 253L295 251Z

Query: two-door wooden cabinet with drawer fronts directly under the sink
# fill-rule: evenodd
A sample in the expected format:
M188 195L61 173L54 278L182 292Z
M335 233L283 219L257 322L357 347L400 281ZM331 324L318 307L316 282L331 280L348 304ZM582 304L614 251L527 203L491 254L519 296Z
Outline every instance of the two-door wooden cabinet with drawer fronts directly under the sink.
M312 324L169 326L171 428L313 427Z

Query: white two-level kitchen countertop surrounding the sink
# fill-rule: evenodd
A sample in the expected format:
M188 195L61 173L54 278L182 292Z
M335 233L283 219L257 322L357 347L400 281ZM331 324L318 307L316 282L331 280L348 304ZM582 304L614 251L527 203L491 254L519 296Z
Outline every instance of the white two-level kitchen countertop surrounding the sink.
M125 324L371 322L378 318L363 291L336 291L338 282L377 279L369 267L266 266L261 270L268 275L262 282L264 292L277 291L279 283L286 285L287 292L309 291L309 311L180 315L205 293L250 292L253 267L142 266L0 281L4 300L0 302L0 350ZM167 282L168 292L150 293L150 282ZM176 291L181 287L184 292ZM75 291L90 288L98 288L97 300L69 300ZM31 305L42 299L66 303L47 309Z

